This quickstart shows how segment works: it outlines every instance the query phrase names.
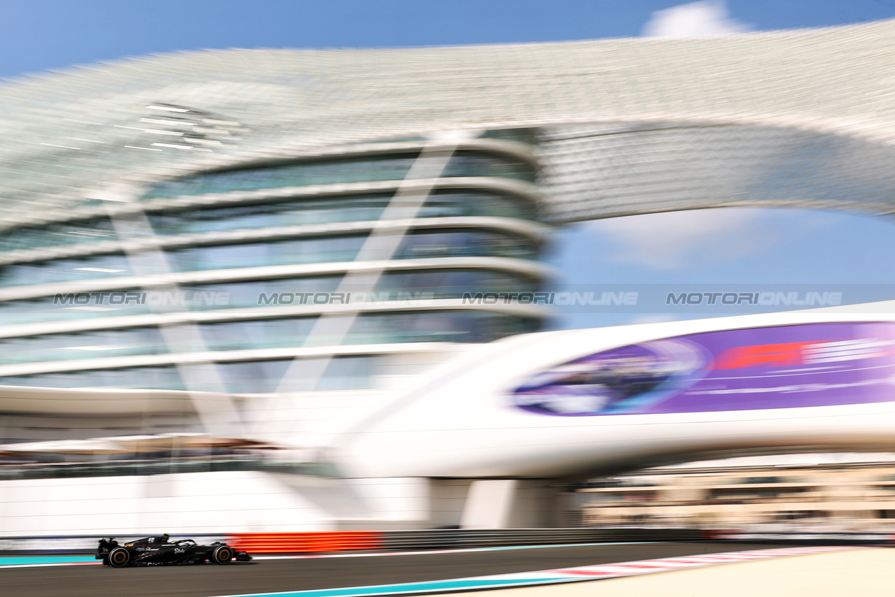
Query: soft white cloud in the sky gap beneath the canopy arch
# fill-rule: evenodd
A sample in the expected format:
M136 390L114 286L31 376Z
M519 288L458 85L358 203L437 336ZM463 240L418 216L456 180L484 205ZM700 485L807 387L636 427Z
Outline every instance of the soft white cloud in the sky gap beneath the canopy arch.
M585 226L615 245L611 260L650 269L734 260L779 240L762 209L672 211L594 220Z

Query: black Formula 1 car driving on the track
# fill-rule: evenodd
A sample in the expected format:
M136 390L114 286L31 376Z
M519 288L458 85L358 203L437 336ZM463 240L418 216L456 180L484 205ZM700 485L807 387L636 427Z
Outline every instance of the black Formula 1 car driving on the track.
M104 566L169 566L174 564L204 564L213 562L224 566L234 561L249 562L251 556L236 551L226 543L214 542L199 545L192 539L172 541L168 535L143 537L137 541L119 545L115 537L100 539L96 559Z

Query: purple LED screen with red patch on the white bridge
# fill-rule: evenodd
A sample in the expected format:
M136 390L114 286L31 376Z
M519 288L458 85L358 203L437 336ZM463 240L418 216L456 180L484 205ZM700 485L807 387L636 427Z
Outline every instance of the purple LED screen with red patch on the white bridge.
M539 414L699 413L895 400L895 323L729 329L621 346L513 392Z

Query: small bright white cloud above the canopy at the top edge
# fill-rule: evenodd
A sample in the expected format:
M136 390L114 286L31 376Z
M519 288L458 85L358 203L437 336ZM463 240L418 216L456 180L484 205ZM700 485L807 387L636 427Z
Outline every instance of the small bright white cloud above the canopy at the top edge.
M743 33L752 28L730 19L724 0L702 0L652 13L643 35L654 38L697 38Z

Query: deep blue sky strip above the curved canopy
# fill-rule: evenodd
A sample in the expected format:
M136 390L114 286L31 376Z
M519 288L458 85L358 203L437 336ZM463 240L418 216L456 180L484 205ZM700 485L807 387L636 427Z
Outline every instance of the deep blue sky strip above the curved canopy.
M667 0L4 0L0 76L206 47L402 47L638 36ZM895 0L728 0L754 30L895 16Z

